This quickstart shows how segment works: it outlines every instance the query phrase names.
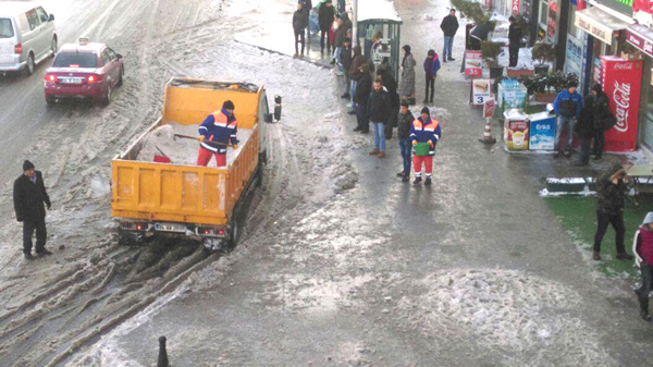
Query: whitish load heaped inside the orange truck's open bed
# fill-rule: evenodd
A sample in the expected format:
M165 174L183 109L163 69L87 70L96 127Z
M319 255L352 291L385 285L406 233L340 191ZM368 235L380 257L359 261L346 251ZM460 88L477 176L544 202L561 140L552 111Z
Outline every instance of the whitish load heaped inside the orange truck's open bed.
M165 156L172 160L174 164L186 164L195 166L197 162L197 149L199 148L199 142L195 139L176 137L175 134L197 136L198 125L181 125L177 123L171 123L161 125L152 130L143 139L143 147L138 152L137 160L145 162L153 162L155 156ZM226 149L226 162L231 164L243 147L245 143L251 136L251 130L241 129L238 130L238 149L234 150L231 147ZM212 163L210 163L212 164Z

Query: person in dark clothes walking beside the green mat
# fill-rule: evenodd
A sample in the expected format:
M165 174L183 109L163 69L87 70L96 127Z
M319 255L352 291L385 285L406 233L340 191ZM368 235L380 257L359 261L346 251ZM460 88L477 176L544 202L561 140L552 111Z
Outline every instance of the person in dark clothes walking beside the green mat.
M596 191L599 196L596 207L596 234L594 234L594 253L592 258L601 260L601 242L609 224L616 232L615 244L617 246L617 259L632 260L632 255L626 253L624 247L624 235L626 224L624 224L624 200L628 187L624 182L626 170L619 163L614 164L606 173L596 180Z

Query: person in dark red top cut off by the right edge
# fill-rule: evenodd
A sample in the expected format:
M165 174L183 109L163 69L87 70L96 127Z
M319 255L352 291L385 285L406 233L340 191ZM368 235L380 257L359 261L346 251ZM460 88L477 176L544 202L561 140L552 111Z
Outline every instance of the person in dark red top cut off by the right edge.
M653 288L653 211L644 218L642 225L634 233L632 243L634 264L642 272L642 286L634 290L640 302L640 316L644 321L651 321L649 315L649 293Z

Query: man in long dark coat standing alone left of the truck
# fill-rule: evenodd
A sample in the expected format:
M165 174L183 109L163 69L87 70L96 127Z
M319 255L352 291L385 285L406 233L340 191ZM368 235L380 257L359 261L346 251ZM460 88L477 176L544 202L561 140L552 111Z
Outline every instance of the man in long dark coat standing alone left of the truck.
M36 230L36 254L52 255L46 249L46 208L50 209L50 197L44 185L44 176L36 171L34 164L26 160L23 162L23 174L14 182L14 208L16 220L23 222L23 253L27 260L32 256L32 236Z

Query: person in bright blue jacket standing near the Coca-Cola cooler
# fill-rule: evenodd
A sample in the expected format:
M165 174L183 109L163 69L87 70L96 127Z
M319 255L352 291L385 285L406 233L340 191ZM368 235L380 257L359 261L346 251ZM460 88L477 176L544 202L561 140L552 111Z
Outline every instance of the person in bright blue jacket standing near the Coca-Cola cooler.
M567 89L558 93L553 101L555 113L557 114L557 124L555 129L555 155L557 158L560 154L565 157L571 157L571 142L574 138L574 124L580 109L582 108L582 97L576 89L578 88L577 82L569 82ZM560 146L560 136L563 131L567 131L567 144Z

